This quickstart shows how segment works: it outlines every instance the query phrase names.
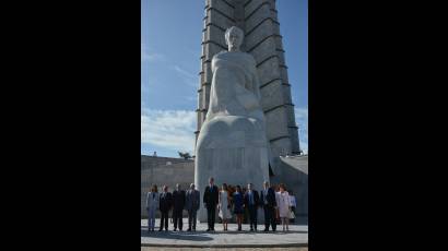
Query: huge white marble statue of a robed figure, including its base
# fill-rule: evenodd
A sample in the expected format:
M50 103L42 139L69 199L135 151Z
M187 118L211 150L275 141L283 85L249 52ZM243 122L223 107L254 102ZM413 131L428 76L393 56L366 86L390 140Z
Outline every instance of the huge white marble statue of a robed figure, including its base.
M239 50L243 38L240 28L229 27L225 32L228 51L212 59L210 105L194 160L194 183L202 194L209 177L219 186L250 182L257 190L269 181L269 144L256 61ZM203 205L198 218L207 220Z

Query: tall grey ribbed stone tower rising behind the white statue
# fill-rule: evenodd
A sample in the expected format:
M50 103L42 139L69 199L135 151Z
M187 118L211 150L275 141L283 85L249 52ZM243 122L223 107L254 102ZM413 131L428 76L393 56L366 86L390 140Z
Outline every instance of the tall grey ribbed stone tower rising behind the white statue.
M298 133L291 98L275 0L205 0L200 86L198 89L198 140L209 108L212 83L211 60L227 50L225 31L237 26L245 33L241 51L254 56L260 79L261 107L275 172L280 155L298 154Z

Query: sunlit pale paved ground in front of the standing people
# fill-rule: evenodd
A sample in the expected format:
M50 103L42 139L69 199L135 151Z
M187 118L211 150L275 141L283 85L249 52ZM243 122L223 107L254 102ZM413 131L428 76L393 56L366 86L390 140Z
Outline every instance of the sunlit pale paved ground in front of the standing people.
M300 250L308 248L308 226L290 225L290 231L283 232L282 226L278 231L262 231L264 225L258 226L258 231L249 231L249 225L243 225L243 231L237 231L236 224L228 224L228 231L223 231L222 224L215 224L214 232L207 230L207 223L198 223L197 231L186 231L188 219L184 218L182 231L173 231L169 224L168 231L158 231L160 219L155 222L155 231L148 231L148 219L141 220L142 250L245 250L241 248L258 248L258 250ZM149 248L150 249L145 249ZM154 249L157 247L157 249ZM169 249L173 248L173 249ZM199 249L198 249L199 248ZM207 249L204 249L207 248ZM268 249L267 249L268 248ZM287 248L287 249L285 249ZM252 250L252 249L250 249Z

